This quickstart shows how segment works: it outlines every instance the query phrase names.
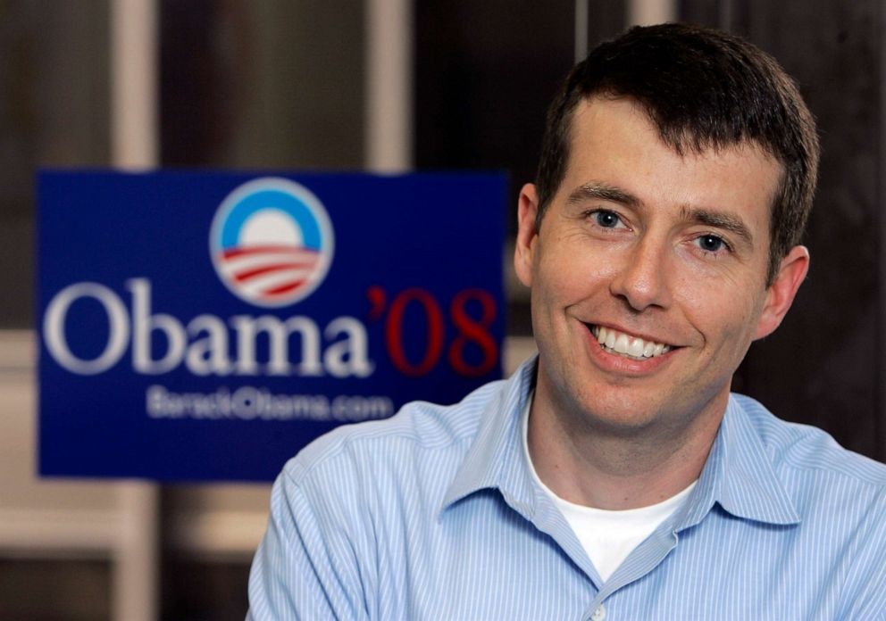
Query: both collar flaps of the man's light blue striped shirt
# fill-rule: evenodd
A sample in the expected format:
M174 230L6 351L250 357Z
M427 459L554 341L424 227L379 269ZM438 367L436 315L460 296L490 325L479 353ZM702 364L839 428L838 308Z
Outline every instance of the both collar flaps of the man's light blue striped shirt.
M535 385L538 356L522 363L481 414L474 441L444 496L441 510L481 489L498 489L526 516L538 498L531 473L522 460L520 413ZM674 516L682 530L698 524L719 504L735 517L790 525L800 521L789 493L775 473L773 457L734 396L698 484Z

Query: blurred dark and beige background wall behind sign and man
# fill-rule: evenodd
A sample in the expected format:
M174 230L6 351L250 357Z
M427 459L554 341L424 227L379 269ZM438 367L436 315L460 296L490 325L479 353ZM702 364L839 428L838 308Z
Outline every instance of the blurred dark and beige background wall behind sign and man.
M798 79L823 162L811 275L735 386L886 459L879 0L131 1L155 16L163 167L505 169L514 197L533 176L547 102L576 54L636 21L748 37ZM0 0L0 619L124 618L121 550L133 541L156 552L149 616L241 619L268 486L135 485L137 497L147 490L142 524L129 484L34 475L34 172L112 165L120 4L130 0ZM378 46L406 52L391 83L378 81ZM400 104L385 100L389 84L405 89ZM403 144L386 160L379 134L390 132ZM531 348L529 308L520 287L508 295L516 360Z

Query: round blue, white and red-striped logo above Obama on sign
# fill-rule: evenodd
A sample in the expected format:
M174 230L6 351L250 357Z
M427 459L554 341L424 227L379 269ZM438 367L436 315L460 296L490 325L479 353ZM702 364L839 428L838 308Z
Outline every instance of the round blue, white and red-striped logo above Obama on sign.
M224 286L267 308L304 300L320 286L335 250L330 217L305 186L255 179L215 212L209 253Z

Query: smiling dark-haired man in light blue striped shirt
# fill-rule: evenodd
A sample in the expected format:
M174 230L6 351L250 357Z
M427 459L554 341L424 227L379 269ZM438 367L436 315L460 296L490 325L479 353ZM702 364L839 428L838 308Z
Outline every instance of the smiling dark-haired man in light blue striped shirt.
M754 46L599 46L519 199L538 358L291 460L251 616L886 619L886 467L729 391L806 277L817 160Z

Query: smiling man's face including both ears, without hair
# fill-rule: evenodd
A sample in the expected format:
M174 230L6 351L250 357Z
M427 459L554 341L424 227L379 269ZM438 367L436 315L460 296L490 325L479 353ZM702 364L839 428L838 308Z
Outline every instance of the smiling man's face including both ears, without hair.
M630 100L580 104L539 230L534 187L520 199L537 399L616 433L679 433L722 414L749 344L778 326L806 274L798 246L765 283L780 175L756 145L681 156Z

